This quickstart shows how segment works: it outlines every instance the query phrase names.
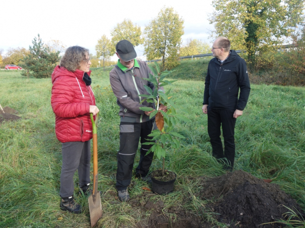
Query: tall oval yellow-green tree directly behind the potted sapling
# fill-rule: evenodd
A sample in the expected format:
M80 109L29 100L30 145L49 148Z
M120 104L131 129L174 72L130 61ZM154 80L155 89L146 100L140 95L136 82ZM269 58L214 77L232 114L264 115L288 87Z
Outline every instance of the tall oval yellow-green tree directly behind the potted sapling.
M178 50L184 34L184 20L173 8L163 8L144 30L147 59L162 58L162 69L178 65Z

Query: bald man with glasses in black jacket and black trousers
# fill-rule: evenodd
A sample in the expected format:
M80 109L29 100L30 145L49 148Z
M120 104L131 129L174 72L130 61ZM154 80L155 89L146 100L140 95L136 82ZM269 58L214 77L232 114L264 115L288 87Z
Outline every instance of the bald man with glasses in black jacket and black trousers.
M212 156L218 161L223 160L224 169L232 171L235 156L235 122L236 118L242 115L250 94L248 70L246 61L234 50L230 50L230 41L226 37L218 37L214 41L212 52L215 58L208 66L202 111L208 114ZM220 126L224 150L220 139Z

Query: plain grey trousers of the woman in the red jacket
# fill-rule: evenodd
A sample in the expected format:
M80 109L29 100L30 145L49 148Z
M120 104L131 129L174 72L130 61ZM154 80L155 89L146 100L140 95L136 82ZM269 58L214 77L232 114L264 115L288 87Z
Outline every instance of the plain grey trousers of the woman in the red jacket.
M78 170L79 186L90 183L90 140L85 142L64 142L62 145L63 166L60 174L60 196L73 196L73 176Z

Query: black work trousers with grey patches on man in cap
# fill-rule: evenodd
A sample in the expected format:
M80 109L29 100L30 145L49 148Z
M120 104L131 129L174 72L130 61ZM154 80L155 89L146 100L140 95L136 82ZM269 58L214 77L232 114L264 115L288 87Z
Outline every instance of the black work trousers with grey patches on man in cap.
M148 137L152 131L154 120L144 123L120 123L119 133L119 151L117 153L117 171L116 171L116 189L118 191L127 189L131 182L132 172L136 152L141 138L140 161L136 169L136 175L145 177L149 172L154 153L147 156L146 153L152 145L143 145L142 143L150 141L153 137Z

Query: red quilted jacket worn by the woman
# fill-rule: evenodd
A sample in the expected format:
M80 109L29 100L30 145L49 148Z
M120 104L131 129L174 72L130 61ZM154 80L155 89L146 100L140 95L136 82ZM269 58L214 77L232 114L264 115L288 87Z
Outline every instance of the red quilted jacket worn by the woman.
M83 77L82 70L71 72L60 66L52 73L51 105L55 113L56 137L61 142L83 142L92 138L89 110L90 105L95 105L95 98Z

